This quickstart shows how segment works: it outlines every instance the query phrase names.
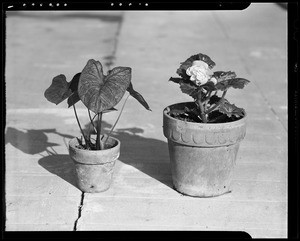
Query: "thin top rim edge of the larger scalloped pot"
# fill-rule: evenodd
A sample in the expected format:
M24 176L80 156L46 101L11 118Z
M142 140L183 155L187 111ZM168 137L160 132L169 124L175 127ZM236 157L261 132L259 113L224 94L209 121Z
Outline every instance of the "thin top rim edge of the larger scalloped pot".
M218 126L230 126L233 123L235 123L235 124L243 123L243 122L246 121L246 118L247 118L247 113L246 113L246 110L245 110L245 115L241 119L239 119L239 120L225 122L225 123L198 123L198 122L189 122L189 121L179 120L179 119L176 119L176 118L170 116L167 113L170 110L170 106L180 105L180 104L186 104L186 103L194 103L194 102L193 101L185 101L185 102L178 102L178 103L174 103L174 104L168 105L163 110L164 116L166 116L167 118L170 118L171 120L174 120L174 121L178 121L178 122L182 122L182 123L188 123L191 126L199 126L199 125L200 126L207 126L207 125L211 125L211 126L215 126L215 127L218 127Z

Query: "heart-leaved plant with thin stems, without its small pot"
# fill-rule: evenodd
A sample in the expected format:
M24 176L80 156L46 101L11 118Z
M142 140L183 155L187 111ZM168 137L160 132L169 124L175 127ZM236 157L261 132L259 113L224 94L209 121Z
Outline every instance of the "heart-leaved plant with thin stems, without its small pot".
M129 95L124 101L115 124L108 134L101 135L102 115L110 111L116 111L114 106L121 101L126 91L129 92ZM133 89L131 68L115 67L109 70L107 75L104 75L101 63L93 59L90 59L83 70L75 74L70 82L67 82L66 76L63 74L55 76L50 87L44 93L46 99L56 105L67 99L68 107L73 106L84 143L82 137L77 139L80 146L88 150L103 150L106 148L106 141L116 126L130 95L147 110L151 110L143 96ZM90 133L84 133L81 128L75 108L78 101L82 101L88 109L91 125L96 132L96 142L92 141ZM93 117L91 112L94 112ZM98 121L95 126L94 119L96 117Z

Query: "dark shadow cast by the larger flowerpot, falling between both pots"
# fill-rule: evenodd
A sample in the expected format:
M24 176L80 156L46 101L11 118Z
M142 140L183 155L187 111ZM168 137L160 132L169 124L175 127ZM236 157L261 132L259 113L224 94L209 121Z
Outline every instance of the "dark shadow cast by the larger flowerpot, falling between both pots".
M102 121L102 133L109 133L111 127L112 125ZM91 124L85 125L86 131L92 129ZM119 160L173 188L167 143L145 138L142 133L144 130L137 127L117 128L112 133L113 137L121 141Z

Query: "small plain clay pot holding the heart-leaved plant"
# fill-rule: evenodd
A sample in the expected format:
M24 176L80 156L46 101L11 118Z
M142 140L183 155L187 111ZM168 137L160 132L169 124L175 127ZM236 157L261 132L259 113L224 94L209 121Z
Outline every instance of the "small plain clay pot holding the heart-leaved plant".
M69 142L69 154L75 164L78 188L83 192L103 192L112 183L113 168L120 155L120 141L110 137L109 149L91 151L79 149L77 138Z

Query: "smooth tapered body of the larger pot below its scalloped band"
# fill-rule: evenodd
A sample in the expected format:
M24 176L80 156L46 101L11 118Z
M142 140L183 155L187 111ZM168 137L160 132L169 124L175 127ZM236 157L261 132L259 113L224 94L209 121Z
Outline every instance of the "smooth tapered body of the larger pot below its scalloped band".
M168 141L173 185L180 193L214 197L230 192L239 143L201 148Z

